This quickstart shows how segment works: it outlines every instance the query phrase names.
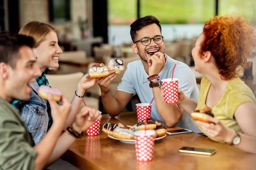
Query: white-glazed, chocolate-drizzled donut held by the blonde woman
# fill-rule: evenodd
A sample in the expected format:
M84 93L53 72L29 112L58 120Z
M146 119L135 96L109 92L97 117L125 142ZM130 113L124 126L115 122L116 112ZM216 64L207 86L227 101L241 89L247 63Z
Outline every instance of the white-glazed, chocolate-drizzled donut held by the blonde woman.
M94 64L89 69L89 75L92 78L100 78L108 76L108 68L104 66L103 63L101 64Z

